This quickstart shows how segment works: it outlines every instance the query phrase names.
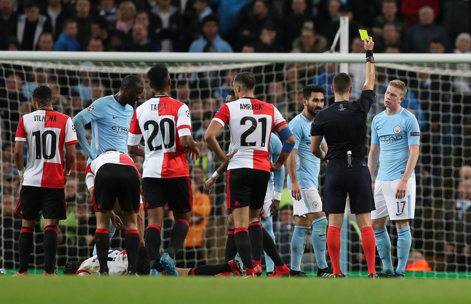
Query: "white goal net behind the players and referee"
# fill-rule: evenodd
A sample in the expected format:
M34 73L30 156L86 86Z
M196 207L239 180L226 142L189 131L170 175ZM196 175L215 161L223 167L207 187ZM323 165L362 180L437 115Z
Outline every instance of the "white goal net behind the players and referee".
M179 60L159 54L160 57L152 62L140 62L141 57L130 59L129 55L124 58L123 54L120 55L123 57L121 60L110 61L102 56L103 60L93 62L87 59L67 60L67 57L61 60L55 57L49 60L29 58L27 61L0 59L0 268L12 271L18 268L18 238L22 225L21 219L13 216L19 194L18 173L13 164L14 135L19 118L32 110L29 101L36 85L48 84L52 89L54 109L73 117L94 100L115 94L124 76L136 74L145 79L153 62L168 64L173 84L172 97L188 104L193 137L201 153L200 160L188 161L197 207L190 221L190 233L184 248L177 255L178 266L193 267L224 260L227 237L225 178L217 180L209 196L200 191L220 164L204 141L205 129L232 89L234 76L240 71L254 73L257 80L256 97L275 104L289 122L302 111L302 88L307 84L324 86L327 91L325 106L332 104L330 86L333 76L339 72L339 63L336 62L340 60L329 57L331 55L317 54L311 56L309 62L303 62L306 56L294 54L283 54L277 60L274 57L252 55L248 63L243 62L241 54L228 55L224 61L206 57L205 60L193 63L184 62L184 58L187 61L198 60L188 58L193 54L186 54ZM87 56L93 58L90 54ZM380 56L377 57L377 62L380 62ZM342 62L349 64L349 73L353 77L352 99L356 99L365 81L365 63L361 63L364 58L359 60L356 55L345 58ZM325 63L324 60L331 63ZM370 124L372 118L384 110L383 96L388 82L392 79L405 81L408 92L402 106L416 115L421 129L420 157L416 166L416 218L411 224L413 243L408 267L416 271L416 275L424 277L466 276L465 272L470 270L471 263L471 170L466 167L471 165L470 66L465 63L394 62L376 64L377 98L368 115L368 122ZM438 56L436 62L444 61ZM146 83L140 102L153 95ZM89 129L87 132L90 136ZM223 150L227 151L229 132L225 131L218 139ZM142 168L143 159L134 157L134 160L138 168ZM67 261L89 257L93 250L96 218L84 182L85 165L86 156L78 148L77 165L65 189L68 219L60 222L58 268ZM319 175L321 193L324 171L325 164L322 164ZM286 189L286 181L284 188L280 212L275 214L273 226L277 248L289 264L294 223L292 200ZM342 250L346 252L344 263L348 267L345 270L350 274L358 274L366 271L361 234L354 218L348 217L347 220L348 233L342 243ZM172 225L172 218L167 217L162 229L163 247L168 245ZM387 228L392 236L393 264L396 265L397 233L390 221L387 222ZM35 228L30 268L43 267L42 230L43 220L39 219ZM112 239L111 248L124 248L123 236L123 232L118 231ZM376 264L381 265L379 258ZM308 272L317 269L309 236L302 269Z

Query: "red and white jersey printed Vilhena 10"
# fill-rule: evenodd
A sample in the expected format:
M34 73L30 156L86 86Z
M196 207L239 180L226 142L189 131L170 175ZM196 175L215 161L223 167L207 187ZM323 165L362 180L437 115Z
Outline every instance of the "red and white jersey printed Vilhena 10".
M20 119L15 141L26 141L28 161L23 185L64 188L64 146L77 144L72 119L54 110L38 110Z

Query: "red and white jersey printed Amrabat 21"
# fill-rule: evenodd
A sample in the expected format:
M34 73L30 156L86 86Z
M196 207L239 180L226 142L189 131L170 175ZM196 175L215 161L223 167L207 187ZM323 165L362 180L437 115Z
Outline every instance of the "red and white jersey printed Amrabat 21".
M213 118L231 129L231 145L237 149L228 170L250 168L271 171L268 160L270 134L273 128L286 125L280 111L271 103L241 98L223 104Z

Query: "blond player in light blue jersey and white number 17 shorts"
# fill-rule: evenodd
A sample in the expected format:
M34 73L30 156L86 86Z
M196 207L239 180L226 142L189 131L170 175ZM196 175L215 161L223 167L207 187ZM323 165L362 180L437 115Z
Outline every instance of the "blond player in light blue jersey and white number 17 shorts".
M373 118L368 168L373 177L378 160L378 176L372 185L376 210L371 211L376 249L383 262L382 277L404 278L412 244L409 220L416 208L416 175L419 159L420 128L414 114L401 107L407 87L400 80L390 81L384 94L386 110ZM397 268L391 260L391 239L386 217L397 228Z

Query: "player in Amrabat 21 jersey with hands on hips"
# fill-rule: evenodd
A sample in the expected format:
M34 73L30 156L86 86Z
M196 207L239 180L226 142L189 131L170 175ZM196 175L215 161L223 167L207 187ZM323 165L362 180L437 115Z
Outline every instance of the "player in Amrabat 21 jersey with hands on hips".
M294 137L278 109L254 97L255 76L241 72L235 76L234 92L238 100L222 105L205 134L209 148L225 162L227 203L235 224L235 245L247 276L254 276L251 243L262 244L259 222L271 171L278 171L294 146ZM225 126L231 129L231 145L237 153L231 158L219 146L216 135ZM275 128L285 142L275 164L268 160L270 134ZM251 226L251 237L248 228ZM276 271L285 271L275 268Z

